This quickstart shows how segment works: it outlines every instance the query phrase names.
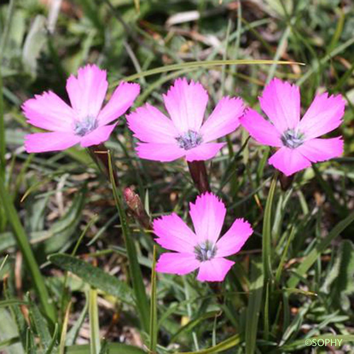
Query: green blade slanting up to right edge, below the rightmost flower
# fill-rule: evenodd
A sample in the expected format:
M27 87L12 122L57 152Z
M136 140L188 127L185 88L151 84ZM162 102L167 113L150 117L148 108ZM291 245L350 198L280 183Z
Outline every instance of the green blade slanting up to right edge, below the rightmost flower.
M346 227L348 227L354 221L354 212L350 213L345 219L340 221L331 232L305 257L301 264L296 269L296 273L299 276L304 276L306 272L312 267L316 259L321 253L331 244ZM288 287L296 287L300 279L298 276L293 275L288 281Z

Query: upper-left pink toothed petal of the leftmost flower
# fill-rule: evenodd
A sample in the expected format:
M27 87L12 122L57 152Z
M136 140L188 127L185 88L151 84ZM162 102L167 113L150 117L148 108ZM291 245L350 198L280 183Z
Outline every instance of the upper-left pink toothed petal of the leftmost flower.
M73 131L74 110L55 93L43 92L22 105L27 122L51 131Z

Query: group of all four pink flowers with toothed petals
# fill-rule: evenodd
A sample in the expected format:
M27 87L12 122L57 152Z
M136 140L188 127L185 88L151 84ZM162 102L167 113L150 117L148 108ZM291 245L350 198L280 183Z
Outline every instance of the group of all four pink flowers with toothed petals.
M78 143L89 147L106 141L116 125L112 122L131 107L140 90L138 84L122 82L102 108L106 76L96 65L86 65L77 77L70 76L66 89L71 106L51 91L24 102L28 122L50 131L27 135L27 152L63 150ZM259 98L268 119L254 109L245 111L242 100L231 97L223 97L205 119L208 94L201 84L186 79L177 79L163 100L169 117L148 103L127 116L129 128L140 140L136 152L142 159L211 159L225 145L214 141L240 124L259 143L278 148L269 164L287 176L343 153L341 137L319 138L341 124L345 104L340 95L316 96L302 119L299 87L279 79L272 80ZM173 274L199 269L198 280L222 281L234 264L224 257L237 253L253 232L247 221L236 219L219 238L225 214L223 202L206 193L190 203L194 232L175 213L155 219L156 242L175 251L162 254L156 269Z

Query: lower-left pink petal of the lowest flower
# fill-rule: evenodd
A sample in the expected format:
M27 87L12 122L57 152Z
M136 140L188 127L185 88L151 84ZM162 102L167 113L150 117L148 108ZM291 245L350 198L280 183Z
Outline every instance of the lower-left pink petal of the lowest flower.
M191 253L162 253L156 263L156 272L184 275L197 269L200 265Z

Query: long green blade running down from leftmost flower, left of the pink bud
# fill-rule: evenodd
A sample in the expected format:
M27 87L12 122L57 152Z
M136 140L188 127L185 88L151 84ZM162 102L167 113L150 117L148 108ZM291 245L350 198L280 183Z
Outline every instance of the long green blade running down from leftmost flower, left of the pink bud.
M122 234L125 241L127 256L129 259L129 272L133 284L133 290L135 293L135 300L138 308L138 314L141 320L141 325L143 330L145 332L148 332L149 331L149 301L145 291L143 275L141 273L141 268L138 262L136 247L130 233L127 217L123 207L122 193L120 189L116 187L115 184L114 175L113 175L112 158L109 150L107 153L108 153L108 167L109 167L110 182L112 184L114 201L119 213L120 223L122 225Z

